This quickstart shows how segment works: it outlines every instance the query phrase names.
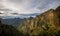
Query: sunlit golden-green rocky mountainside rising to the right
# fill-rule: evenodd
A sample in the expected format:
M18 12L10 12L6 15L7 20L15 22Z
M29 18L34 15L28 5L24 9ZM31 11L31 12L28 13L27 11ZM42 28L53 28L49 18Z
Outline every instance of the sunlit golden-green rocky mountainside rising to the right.
M35 18L27 18L18 26L18 30L31 36L60 36L60 6Z

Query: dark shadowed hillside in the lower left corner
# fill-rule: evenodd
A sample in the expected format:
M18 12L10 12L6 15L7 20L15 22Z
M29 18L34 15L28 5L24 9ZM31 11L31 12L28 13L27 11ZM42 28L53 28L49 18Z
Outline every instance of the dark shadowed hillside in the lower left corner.
M0 36L22 36L16 28L11 25L4 25L1 23L0 19Z

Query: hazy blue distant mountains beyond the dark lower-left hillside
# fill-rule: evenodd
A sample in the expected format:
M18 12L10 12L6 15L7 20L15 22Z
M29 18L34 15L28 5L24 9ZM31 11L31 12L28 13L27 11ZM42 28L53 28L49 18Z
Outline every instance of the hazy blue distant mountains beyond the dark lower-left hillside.
M9 19L2 19L1 22L2 22L2 24L12 25L12 26L17 27L24 20L25 19L20 19L20 18L9 18Z

